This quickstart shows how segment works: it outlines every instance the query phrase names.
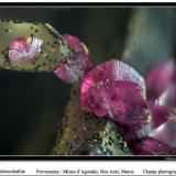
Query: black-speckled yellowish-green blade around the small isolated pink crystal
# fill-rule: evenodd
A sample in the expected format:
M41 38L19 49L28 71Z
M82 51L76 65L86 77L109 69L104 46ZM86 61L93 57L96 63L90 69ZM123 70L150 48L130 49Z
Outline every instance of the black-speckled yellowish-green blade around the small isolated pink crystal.
M18 37L43 40L41 55L34 62L11 62L9 45ZM47 23L0 21L0 67L13 70L52 72L61 62L73 55L67 42Z

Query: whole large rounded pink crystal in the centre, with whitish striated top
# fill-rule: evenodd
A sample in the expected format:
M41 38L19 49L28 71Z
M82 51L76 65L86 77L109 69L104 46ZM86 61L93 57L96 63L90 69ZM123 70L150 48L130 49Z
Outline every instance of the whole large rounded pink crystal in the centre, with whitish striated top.
M144 80L134 69L112 59L97 66L82 80L81 107L121 124L141 125L148 116L143 89Z

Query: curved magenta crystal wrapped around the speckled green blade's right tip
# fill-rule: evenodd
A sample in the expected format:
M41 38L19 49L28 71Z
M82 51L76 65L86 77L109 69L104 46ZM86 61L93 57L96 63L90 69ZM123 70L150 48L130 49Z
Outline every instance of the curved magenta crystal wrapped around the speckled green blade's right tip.
M86 46L76 36L68 34L63 36L75 54L58 65L54 74L67 84L73 84L80 80L90 70L92 64Z

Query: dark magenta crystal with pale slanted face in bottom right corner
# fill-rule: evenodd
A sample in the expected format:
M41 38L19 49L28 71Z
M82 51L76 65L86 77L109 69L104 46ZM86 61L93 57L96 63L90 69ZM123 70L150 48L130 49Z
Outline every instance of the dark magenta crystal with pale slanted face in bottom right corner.
M162 112L161 112L162 114ZM133 129L133 128L132 128ZM133 129L134 130L134 129ZM134 140L135 132L125 131L127 139L134 154L138 155L175 155L176 154L176 117L163 121L156 129L151 129L147 136ZM136 138L138 139L138 138ZM140 138L139 138L140 139Z

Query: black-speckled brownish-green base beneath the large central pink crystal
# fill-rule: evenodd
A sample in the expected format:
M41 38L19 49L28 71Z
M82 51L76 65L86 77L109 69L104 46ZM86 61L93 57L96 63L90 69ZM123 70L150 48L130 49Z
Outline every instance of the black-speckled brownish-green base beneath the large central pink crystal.
M58 128L53 155L132 155L118 127L80 109L80 84L74 84Z

